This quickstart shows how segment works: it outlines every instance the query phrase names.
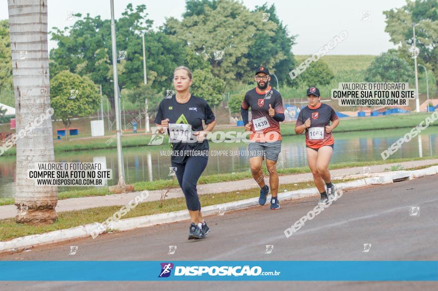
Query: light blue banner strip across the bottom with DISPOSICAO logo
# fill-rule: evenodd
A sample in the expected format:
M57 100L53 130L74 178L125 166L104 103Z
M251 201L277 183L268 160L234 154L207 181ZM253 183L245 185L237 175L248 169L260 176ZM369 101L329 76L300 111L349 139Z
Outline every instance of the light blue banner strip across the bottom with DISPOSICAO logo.
M0 281L438 281L438 261L0 261Z

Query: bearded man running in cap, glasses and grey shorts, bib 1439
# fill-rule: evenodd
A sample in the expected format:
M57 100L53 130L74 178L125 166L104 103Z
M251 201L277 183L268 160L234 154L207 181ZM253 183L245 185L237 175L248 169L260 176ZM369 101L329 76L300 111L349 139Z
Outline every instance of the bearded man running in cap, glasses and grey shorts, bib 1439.
M255 72L254 80L257 87L246 92L242 101L240 113L242 115L245 131L250 131L249 165L252 177L260 186L258 203L265 205L269 187L265 184L262 163L266 156L266 167L269 172L269 185L271 186L272 210L279 209L278 203L278 174L276 163L281 151L280 122L284 121L284 108L281 95L271 88L271 77L266 67L259 67ZM251 108L251 121L248 109Z

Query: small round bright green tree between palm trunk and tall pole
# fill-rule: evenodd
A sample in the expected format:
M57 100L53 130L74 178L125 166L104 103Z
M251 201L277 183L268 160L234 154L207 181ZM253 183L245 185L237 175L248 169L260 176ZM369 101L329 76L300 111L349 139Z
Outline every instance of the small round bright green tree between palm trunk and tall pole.
M52 107L62 119L68 140L73 117L89 116L100 106L98 87L88 77L62 71L52 79ZM76 96L73 98L73 96Z

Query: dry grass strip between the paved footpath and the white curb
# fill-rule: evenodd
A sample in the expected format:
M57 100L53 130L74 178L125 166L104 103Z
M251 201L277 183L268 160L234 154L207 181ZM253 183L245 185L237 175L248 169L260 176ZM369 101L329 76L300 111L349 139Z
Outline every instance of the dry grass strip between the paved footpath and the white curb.
M342 183L350 180L336 180L337 183ZM279 194L287 191L298 189L311 188L313 184L310 182L300 182L291 184L282 184L279 187ZM258 197L259 188L251 188L239 191L228 191L214 194L200 195L199 199L203 207L209 205L216 205L231 201L248 199L251 197ZM67 229L84 224L95 222L104 222L108 217L112 216L114 212L118 211L121 206L96 207L78 211L68 211L58 213L58 220L51 225L23 225L17 224L15 219L0 220L0 241L9 240L17 237L40 234L60 229ZM160 207L159 201L151 201L140 203L136 208L128 212L123 219L132 218L144 215L152 215L158 213L168 213L173 211L185 210L186 201L183 197L172 198L164 201L163 207Z

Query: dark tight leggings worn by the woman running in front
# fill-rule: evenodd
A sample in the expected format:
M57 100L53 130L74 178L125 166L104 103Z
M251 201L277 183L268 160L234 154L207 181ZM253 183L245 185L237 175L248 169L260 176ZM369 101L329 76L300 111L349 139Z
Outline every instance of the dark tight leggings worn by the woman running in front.
M191 211L201 210L196 184L208 161L204 156L190 156L182 164L172 162L172 166L177 168L175 175L186 197L187 209Z

